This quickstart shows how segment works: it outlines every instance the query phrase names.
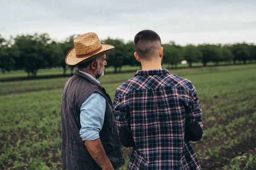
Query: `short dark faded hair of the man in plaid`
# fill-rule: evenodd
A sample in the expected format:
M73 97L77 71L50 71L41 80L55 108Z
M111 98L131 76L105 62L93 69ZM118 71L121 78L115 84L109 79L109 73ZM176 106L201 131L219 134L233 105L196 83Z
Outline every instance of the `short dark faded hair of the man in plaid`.
M146 59L161 47L161 39L155 31L143 30L135 35L134 44L138 56Z

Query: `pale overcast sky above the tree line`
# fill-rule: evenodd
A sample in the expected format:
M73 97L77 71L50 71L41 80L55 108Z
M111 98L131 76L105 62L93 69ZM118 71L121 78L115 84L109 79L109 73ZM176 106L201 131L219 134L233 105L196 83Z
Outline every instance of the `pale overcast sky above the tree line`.
M143 29L163 43L256 43L256 0L0 0L0 34L95 32L133 40Z

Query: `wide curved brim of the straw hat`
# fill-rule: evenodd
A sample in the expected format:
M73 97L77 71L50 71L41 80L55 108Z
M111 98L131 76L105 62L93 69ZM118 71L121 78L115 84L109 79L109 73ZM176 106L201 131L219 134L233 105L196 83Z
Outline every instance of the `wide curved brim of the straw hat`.
M109 44L102 44L102 49L100 51L97 51L95 54L91 54L90 56L86 57L76 57L76 50L75 48L72 48L66 56L65 62L67 65L76 65L79 64L80 62L87 62L92 59L95 59L96 57L99 57L103 54L108 53L109 51L113 50L115 47L113 45Z

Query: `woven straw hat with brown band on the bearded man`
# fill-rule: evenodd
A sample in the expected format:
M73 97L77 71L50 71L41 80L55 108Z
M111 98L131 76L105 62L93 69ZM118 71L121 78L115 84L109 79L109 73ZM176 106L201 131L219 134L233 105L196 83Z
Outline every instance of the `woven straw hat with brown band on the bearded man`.
M67 65L76 65L95 59L114 48L113 45L101 43L97 34L89 32L75 38L74 48L67 53L65 62Z

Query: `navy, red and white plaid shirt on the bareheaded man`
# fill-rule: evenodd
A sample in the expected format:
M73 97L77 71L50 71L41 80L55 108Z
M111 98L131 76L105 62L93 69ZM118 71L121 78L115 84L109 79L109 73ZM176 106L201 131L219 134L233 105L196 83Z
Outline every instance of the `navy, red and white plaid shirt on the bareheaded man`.
M131 136L129 170L200 170L185 127L203 128L197 91L167 69L139 70L117 88L114 115L121 142Z

